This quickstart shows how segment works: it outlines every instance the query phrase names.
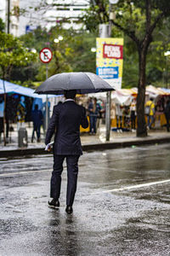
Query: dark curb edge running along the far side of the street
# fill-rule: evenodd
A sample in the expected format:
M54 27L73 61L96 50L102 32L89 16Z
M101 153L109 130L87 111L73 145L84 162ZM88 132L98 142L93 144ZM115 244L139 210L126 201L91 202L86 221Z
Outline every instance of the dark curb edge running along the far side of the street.
M134 140L119 143L97 143L82 145L82 150L87 152L114 149L114 148L127 148L131 146L151 145L156 143L170 143L170 137L163 138L144 138L144 140ZM14 150L0 150L0 158L22 157L33 154L52 154L44 151L44 148L19 148Z

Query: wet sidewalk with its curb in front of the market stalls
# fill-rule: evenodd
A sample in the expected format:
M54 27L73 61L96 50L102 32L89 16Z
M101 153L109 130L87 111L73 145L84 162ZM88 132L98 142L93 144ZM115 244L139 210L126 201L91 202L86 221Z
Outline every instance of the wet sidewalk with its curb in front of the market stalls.
M44 151L44 137L41 135L41 143L37 143L36 139L34 143L31 143L32 127L26 125L26 131L28 134L28 147L18 148L18 132L16 126L14 131L9 134L9 143L3 146L3 142L0 143L0 157L12 157L28 154L49 154ZM158 143L170 143L170 133L167 132L166 127L160 130L151 130L148 132L148 137L136 137L135 132L123 131L117 133L111 131L110 142L105 141L105 125L100 125L97 134L89 135L88 133L81 134L82 149L84 151L91 150L105 150L111 148L133 147L137 145L146 144L158 144Z

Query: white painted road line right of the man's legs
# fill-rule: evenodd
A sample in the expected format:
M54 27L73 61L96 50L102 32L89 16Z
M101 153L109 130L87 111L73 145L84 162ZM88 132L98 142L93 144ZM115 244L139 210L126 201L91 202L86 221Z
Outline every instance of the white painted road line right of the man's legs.
M152 182L152 183L142 183L142 184L137 184L137 185L133 185L133 186L122 187L119 189L103 190L103 191L99 191L99 192L94 192L93 194L118 192L118 191L123 191L123 190L130 190L130 189L139 189L139 188L144 188L144 187L149 187L149 186L153 186L153 185L157 185L157 184L161 184L161 183L169 183L169 182L170 182L170 179L166 179L166 180L161 180L161 181Z

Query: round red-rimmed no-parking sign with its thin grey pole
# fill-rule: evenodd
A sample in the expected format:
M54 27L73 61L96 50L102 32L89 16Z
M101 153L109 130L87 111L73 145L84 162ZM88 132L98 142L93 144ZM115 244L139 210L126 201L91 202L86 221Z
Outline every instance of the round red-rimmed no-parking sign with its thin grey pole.
M46 63L46 79L48 79L48 62L53 58L53 53L49 48L43 48L40 51L40 60ZM46 96L46 114L45 114L45 133L48 129L48 95Z

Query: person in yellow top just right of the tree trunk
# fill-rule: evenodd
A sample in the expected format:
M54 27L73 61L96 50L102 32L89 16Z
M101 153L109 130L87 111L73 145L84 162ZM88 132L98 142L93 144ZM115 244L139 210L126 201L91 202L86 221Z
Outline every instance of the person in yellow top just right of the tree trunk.
M155 103L153 102L153 98L150 98L148 102L145 103L144 112L147 115L147 129L150 130L151 126L155 122Z

